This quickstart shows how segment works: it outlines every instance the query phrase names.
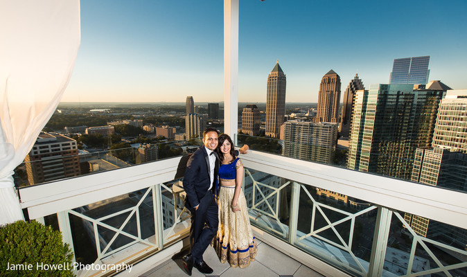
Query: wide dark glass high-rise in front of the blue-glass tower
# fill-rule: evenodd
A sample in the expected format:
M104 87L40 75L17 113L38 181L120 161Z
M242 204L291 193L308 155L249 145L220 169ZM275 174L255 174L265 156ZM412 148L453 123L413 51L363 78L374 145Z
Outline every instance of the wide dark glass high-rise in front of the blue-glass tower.
M416 148L432 143L445 91L412 84L372 84L355 94L347 166L410 179Z

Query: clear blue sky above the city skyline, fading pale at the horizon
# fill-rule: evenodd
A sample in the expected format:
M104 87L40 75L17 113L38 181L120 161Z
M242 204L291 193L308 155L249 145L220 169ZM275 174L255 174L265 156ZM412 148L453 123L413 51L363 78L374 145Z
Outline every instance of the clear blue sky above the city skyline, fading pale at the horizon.
M240 0L239 101L265 102L276 60L287 102L317 102L333 69L387 83L394 58L430 55L430 80L467 89L467 1ZM63 102L223 100L222 0L81 0Z

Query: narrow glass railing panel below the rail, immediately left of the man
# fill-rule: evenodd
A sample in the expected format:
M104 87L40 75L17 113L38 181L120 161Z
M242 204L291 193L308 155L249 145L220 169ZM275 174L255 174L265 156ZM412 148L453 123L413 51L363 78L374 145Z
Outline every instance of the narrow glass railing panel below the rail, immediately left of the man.
M182 179L161 185L164 244L182 238L190 232L191 214L185 208L185 197Z

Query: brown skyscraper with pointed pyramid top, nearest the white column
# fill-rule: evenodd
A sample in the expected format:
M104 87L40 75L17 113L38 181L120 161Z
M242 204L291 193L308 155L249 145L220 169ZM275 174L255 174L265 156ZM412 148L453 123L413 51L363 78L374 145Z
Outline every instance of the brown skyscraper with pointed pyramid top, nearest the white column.
M279 60L267 76L266 136L279 138L285 116L285 74Z

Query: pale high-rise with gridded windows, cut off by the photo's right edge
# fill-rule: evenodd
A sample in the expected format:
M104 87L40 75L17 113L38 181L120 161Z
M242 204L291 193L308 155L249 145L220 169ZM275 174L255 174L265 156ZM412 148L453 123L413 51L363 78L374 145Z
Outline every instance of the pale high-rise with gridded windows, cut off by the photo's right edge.
M437 81L439 82L439 81ZM440 87L448 87L439 82ZM433 148L418 148L412 181L467 192L467 90L448 90L439 105ZM467 231L405 213L405 221L425 238L444 238L465 246Z

